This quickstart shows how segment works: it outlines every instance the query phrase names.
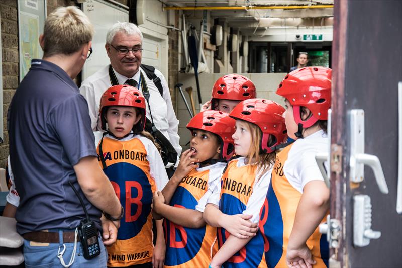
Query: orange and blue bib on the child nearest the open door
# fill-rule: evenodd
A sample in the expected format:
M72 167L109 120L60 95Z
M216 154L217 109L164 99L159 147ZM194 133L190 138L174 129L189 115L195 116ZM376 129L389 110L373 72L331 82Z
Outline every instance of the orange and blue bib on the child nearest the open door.
M292 144L293 145L293 144ZM296 210L302 193L291 186L283 168L292 147L285 147L277 156L272 170L271 184L261 208L259 229L264 234L264 251L268 268L287 267L286 248L293 228ZM324 217L322 222L326 221ZM318 228L307 240L317 264L314 267L328 267L328 242Z

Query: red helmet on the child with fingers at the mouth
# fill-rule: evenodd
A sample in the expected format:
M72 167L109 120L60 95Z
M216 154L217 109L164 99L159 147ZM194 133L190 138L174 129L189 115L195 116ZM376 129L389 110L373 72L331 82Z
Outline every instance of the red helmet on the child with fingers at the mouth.
M196 114L187 124L189 130L200 129L217 135L221 140L221 158L228 160L234 153L235 120L221 111L207 110Z

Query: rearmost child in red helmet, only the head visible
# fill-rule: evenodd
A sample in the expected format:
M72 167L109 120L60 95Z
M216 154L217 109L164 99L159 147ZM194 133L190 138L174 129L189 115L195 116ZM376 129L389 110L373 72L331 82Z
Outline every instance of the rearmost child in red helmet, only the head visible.
M218 110L230 113L241 101L255 97L255 86L249 78L240 74L228 74L215 82L211 100L203 104L201 112Z

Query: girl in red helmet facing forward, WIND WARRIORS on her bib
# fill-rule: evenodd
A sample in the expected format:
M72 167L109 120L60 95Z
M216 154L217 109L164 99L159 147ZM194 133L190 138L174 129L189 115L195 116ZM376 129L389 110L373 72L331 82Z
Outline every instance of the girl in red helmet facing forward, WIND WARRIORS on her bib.
M154 139L144 131L145 99L135 87L115 85L102 95L99 114L106 131L94 133L99 165L125 210L117 241L108 248L108 266L163 267L162 221L154 248L151 204L168 178Z

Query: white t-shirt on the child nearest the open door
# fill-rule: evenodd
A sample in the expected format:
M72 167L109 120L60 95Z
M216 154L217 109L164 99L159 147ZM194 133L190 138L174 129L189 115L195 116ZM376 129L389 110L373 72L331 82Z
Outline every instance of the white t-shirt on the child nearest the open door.
M316 161L317 153L323 152L328 152L328 135L323 130L297 139L292 144L283 164L283 172L290 185L300 193L303 193L307 183L314 180L324 181Z

